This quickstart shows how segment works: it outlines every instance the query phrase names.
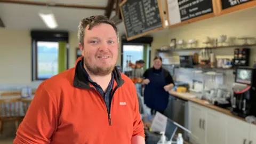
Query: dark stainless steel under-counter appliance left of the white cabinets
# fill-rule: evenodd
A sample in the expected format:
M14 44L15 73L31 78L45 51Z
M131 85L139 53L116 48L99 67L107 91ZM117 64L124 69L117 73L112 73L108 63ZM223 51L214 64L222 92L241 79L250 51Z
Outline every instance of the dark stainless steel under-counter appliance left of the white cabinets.
M177 122L188 129L188 101L170 95L169 104L165 115L172 121ZM183 139L187 140L187 132L178 127L177 133L182 133Z

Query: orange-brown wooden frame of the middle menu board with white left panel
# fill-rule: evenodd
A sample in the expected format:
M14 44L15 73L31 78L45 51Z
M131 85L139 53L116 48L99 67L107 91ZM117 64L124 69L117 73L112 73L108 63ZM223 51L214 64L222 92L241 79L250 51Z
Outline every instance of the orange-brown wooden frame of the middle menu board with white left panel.
M167 21L169 23L169 28L174 28L174 27L178 27L178 26L182 26L182 25L186 25L188 23L192 23L192 22L196 22L196 21L200 21L200 20L204 20L204 19L209 19L209 18L213 18L216 15L220 14L220 1L219 0L211 0L212 1L212 7L213 7L213 12L209 13L209 14L204 14L202 16L199 17L195 17L195 18L191 18L185 21L181 21L180 23L176 23L174 25L170 25L170 19L169 19L169 11L168 11L168 2L167 0L165 1L165 10L166 10L166 16L167 16Z

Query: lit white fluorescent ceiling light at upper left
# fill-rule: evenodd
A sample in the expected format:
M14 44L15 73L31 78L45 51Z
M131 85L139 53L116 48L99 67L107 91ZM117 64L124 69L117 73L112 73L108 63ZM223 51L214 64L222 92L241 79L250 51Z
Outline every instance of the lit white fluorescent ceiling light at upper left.
M51 29L57 28L58 24L55 20L54 14L50 10L40 11L39 17L44 21L45 25Z

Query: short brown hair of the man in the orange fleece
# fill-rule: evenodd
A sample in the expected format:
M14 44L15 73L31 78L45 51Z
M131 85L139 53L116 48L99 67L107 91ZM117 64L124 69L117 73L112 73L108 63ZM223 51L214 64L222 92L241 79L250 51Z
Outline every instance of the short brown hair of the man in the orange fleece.
M106 16L104 15L94 15L88 18L84 18L81 20L78 26L78 39L79 43L81 43L84 46L84 31L85 28L89 25L89 30L91 30L94 26L100 25L101 23L106 23L108 25L111 25L114 30L116 31L116 36L119 42L119 37L118 37L118 31L115 23L113 21L110 21Z

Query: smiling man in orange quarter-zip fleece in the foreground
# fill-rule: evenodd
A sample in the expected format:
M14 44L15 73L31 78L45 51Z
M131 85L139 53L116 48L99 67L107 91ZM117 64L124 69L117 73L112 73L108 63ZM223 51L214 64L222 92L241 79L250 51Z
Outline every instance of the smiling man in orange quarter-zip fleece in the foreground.
M121 74L118 33L105 16L78 27L83 57L38 86L14 143L145 143L134 84Z

